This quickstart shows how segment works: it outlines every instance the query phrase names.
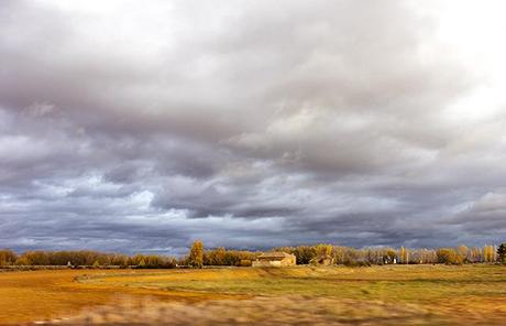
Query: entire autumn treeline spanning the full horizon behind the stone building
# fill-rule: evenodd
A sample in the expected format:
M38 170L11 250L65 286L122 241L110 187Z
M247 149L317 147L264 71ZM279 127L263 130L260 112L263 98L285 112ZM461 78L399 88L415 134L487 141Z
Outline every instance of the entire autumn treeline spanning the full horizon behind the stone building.
M506 243L468 248L410 249L410 248L365 248L355 249L333 244L280 247L273 249L293 253L297 264L318 264L322 260L331 264L463 264L506 263ZM271 250L268 250L271 251ZM117 267L170 269L176 267L249 267L258 251L227 250L217 248L205 250L201 241L195 241L188 256L176 259L156 254L117 254L98 251L26 251L16 254L12 250L0 250L0 267L4 265L69 265L69 267Z

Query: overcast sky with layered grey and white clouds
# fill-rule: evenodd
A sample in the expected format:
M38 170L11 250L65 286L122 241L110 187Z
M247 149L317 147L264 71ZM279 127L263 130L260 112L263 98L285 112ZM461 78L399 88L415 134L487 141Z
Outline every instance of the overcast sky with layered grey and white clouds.
M505 10L2 0L0 248L504 241Z

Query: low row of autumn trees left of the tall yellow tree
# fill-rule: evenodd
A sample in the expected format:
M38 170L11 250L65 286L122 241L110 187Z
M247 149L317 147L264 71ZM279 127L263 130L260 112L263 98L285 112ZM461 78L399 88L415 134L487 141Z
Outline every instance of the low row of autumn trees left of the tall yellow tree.
M0 250L2 265L69 265L69 267L119 267L119 268L175 268L178 260L155 254L117 254L98 251L26 251L18 256L12 250Z

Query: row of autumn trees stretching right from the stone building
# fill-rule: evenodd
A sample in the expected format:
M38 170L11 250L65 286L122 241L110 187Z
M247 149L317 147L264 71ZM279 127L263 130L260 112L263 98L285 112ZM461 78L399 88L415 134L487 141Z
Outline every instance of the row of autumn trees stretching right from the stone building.
M277 251L293 253L297 264L309 264L319 258L329 258L333 264L369 265L369 264L424 264L424 263L482 263L506 262L506 244L484 246L481 248L409 249L409 248L366 248L355 249L333 244L280 247Z

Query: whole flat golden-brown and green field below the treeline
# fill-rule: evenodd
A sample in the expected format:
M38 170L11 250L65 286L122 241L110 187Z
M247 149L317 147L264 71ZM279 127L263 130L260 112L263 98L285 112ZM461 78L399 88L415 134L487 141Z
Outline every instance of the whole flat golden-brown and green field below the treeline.
M503 325L506 267L0 273L0 324Z

